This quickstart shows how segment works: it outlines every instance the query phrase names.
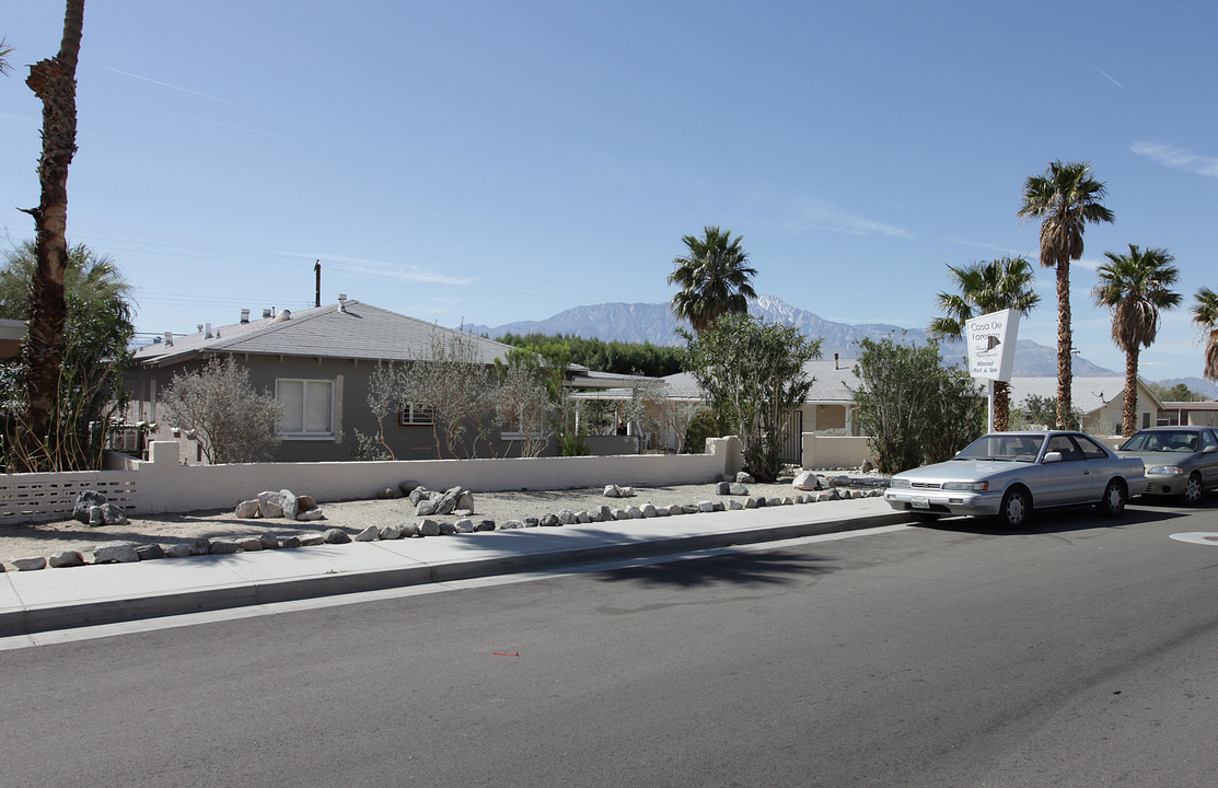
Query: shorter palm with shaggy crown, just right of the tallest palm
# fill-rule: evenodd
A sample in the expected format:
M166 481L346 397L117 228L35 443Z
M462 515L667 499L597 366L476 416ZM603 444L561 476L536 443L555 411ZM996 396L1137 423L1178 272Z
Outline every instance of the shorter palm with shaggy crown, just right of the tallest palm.
M1112 309L1112 342L1125 352L1125 402L1121 430L1138 431L1138 356L1158 335L1161 309L1180 304L1180 294L1170 290L1180 279L1166 248L1141 250L1129 245L1128 255L1105 252L1108 262L1095 269L1099 278L1091 295L1096 306Z

